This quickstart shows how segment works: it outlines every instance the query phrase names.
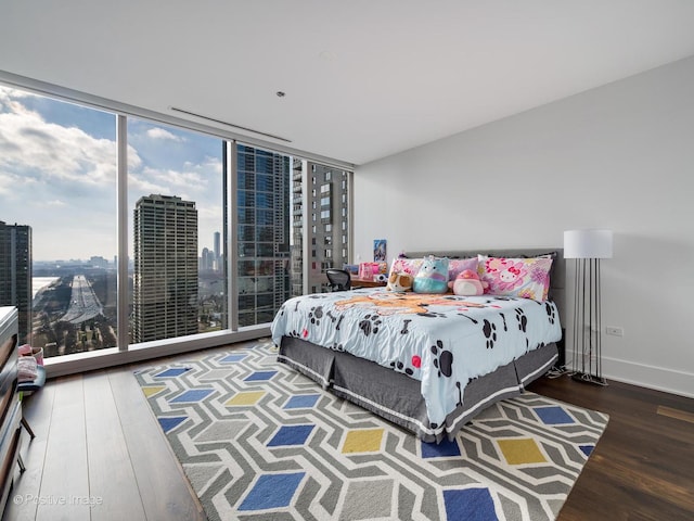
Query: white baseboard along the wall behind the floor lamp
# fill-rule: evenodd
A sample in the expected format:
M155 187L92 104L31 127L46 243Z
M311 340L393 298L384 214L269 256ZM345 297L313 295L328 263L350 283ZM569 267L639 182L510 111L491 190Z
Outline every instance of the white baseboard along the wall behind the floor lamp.
M567 365L570 366L573 351L567 350L566 357ZM603 377L608 381L615 380L694 398L694 389L692 389L694 373L691 372L603 356Z

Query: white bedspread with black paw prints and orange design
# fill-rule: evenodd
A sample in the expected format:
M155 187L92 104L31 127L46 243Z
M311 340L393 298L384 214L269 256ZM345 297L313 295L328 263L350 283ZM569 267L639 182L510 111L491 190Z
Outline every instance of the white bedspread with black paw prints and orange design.
M290 298L271 331L277 345L295 336L420 380L433 425L464 403L472 379L562 338L551 301L384 289Z

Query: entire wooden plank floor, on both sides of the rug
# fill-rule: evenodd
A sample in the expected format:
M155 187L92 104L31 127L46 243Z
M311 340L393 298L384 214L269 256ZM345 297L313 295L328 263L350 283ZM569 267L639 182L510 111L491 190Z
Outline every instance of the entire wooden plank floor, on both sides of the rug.
M153 364L51 380L25 398L36 437L24 436L27 470L15 473L3 521L205 519L132 377ZM561 521L694 519L694 399L568 377L530 390L611 416Z

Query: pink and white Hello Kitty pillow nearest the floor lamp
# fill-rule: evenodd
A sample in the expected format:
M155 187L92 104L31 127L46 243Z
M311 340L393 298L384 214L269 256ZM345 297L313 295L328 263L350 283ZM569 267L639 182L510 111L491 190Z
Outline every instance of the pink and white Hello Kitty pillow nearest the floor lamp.
M489 284L485 293L544 302L550 291L552 257L504 258L478 255L479 278Z

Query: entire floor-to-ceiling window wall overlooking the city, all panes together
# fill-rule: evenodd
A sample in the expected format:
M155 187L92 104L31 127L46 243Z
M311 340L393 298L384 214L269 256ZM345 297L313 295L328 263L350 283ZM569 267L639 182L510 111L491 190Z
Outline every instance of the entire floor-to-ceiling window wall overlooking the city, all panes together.
M348 183L214 131L0 86L0 305L47 358L231 342L347 262ZM303 236L320 243L308 255Z

